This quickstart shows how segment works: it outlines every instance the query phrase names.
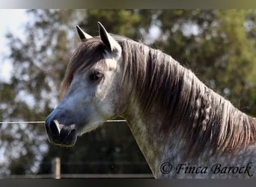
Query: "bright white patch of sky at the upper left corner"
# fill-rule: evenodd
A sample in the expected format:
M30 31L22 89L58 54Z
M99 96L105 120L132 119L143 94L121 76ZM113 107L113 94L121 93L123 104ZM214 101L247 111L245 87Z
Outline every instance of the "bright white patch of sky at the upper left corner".
M13 71L12 64L6 58L10 51L5 35L8 31L22 35L26 22L28 16L24 9L0 9L0 81L8 82Z

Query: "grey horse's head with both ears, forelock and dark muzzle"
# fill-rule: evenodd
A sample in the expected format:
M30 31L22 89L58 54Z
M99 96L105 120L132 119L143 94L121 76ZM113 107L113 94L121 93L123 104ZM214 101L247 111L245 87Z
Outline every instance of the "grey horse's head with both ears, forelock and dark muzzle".
M52 144L73 146L77 135L96 129L121 113L121 53L118 42L98 22L100 37L77 26L82 43L70 59L64 78L64 96L46 118Z

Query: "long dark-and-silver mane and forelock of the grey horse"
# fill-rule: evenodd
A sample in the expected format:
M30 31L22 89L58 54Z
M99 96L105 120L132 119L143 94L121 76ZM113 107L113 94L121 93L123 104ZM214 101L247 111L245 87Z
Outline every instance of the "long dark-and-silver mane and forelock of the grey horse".
M234 153L256 141L256 123L227 99L207 88L192 71L171 56L126 37L113 35L121 45L123 79L134 87L141 115L150 108L163 112L164 133L179 128L193 153ZM105 46L99 37L82 43L71 57L62 93L67 91L76 70L103 61Z

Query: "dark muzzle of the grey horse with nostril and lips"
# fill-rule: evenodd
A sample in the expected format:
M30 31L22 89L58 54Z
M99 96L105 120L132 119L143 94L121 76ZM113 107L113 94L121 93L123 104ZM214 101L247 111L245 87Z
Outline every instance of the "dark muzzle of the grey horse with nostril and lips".
M75 124L64 125L54 119L46 119L46 132L51 144L71 147L76 144L77 129Z

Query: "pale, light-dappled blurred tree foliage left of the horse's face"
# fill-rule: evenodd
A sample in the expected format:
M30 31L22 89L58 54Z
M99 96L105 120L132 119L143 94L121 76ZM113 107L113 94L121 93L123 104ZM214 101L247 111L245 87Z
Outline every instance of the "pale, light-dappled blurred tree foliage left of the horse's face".
M10 83L0 84L1 121L44 120L58 102L65 54L75 43L67 32L72 31L73 12L28 10L33 19L24 36L7 34L14 73ZM2 124L1 150L7 162L1 163L1 174L37 172L48 150L46 140L43 124Z

